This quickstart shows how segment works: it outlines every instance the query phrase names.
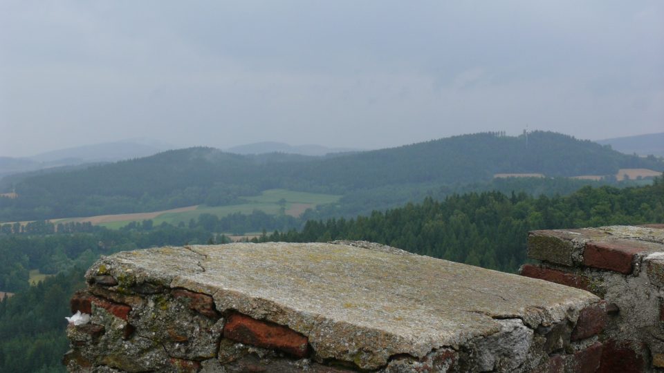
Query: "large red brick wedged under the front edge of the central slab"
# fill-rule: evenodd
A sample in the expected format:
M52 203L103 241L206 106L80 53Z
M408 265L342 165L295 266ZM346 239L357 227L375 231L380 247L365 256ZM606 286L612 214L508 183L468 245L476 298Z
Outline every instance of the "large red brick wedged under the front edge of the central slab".
M273 348L297 357L309 352L308 339L295 330L244 314L231 314L223 326L224 338L248 345Z

